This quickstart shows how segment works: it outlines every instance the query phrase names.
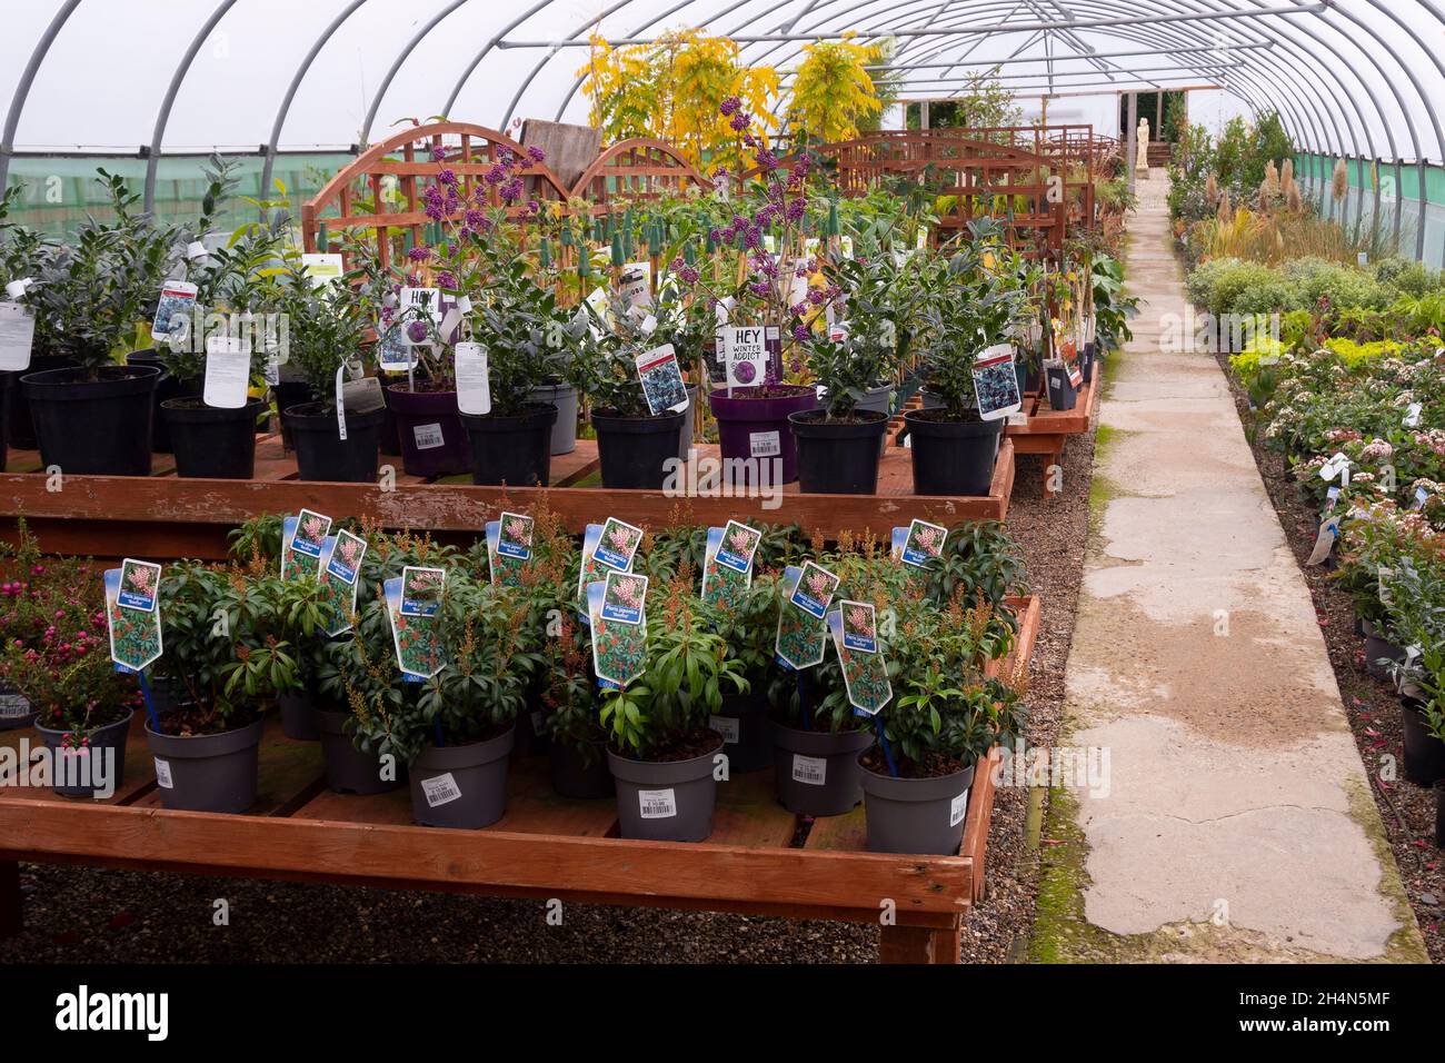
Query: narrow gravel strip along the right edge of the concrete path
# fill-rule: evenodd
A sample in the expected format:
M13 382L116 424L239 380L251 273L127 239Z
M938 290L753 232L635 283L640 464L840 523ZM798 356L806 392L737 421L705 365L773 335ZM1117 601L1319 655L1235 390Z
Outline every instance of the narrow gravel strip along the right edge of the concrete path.
M1230 377L1234 404L1248 430L1253 419L1248 399L1230 372L1228 359L1221 357L1220 363ZM1285 537L1315 599L1315 615L1329 646L1329 664L1334 665L1335 681L1345 701L1350 729L1370 775L1370 793L1380 807L1380 819L1389 833L1394 863L1400 869L1400 881L1415 910L1425 947L1432 962L1445 963L1445 853L1433 845L1435 794L1405 778L1399 697L1393 684L1366 671L1364 638L1355 633L1350 596L1335 589L1328 571L1321 567L1306 568L1303 564L1315 547L1319 529L1319 515L1314 505L1300 500L1296 480L1286 471L1282 454L1253 441L1251 448ZM1381 764L1387 756L1394 758L1397 778L1393 782L1380 778Z

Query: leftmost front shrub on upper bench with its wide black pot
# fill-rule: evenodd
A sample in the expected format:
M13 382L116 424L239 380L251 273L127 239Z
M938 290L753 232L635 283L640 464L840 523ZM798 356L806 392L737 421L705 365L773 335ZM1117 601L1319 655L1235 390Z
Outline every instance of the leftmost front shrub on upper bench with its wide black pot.
M158 366L117 364L175 260L173 233L136 211L139 197L100 171L114 220L88 217L45 256L25 294L36 347L74 367L20 377L42 461L68 474L149 476Z

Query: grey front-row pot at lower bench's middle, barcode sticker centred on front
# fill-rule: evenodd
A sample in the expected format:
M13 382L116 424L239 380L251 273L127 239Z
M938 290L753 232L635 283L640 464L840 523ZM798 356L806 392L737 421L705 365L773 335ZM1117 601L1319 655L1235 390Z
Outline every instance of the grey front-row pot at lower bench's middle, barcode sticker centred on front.
M712 775L721 745L688 761L634 761L607 751L617 782L617 826L644 842L704 842L712 833L718 784Z

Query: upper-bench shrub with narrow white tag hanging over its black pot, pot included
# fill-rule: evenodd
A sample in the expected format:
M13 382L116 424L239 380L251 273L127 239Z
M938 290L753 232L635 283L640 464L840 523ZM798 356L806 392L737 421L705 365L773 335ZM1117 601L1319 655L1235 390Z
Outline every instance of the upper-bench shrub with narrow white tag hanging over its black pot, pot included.
M384 409L380 388L374 398L361 398L360 406L357 396L350 404L345 396L347 377L364 372L363 341L370 324L360 294L364 275L350 270L335 282L316 283L299 256L290 256L280 281L280 311L298 323L290 330L289 364L311 389L311 402L280 411L296 447L299 479L371 483Z

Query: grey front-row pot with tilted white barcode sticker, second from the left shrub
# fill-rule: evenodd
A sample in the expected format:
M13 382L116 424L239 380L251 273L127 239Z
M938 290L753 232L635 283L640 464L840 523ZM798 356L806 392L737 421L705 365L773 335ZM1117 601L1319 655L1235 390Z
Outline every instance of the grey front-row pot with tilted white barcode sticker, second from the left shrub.
M426 746L412 762L412 819L423 827L477 830L507 811L507 764L516 725L461 746Z

